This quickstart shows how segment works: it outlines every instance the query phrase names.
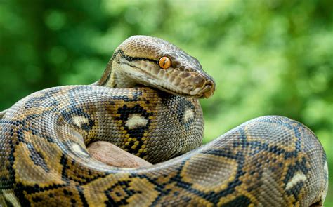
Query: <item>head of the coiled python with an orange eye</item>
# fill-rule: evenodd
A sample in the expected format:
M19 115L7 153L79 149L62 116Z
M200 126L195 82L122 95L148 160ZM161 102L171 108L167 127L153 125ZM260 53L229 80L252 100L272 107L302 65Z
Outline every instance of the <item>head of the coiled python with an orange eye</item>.
M118 46L100 85L129 88L138 85L176 95L209 98L214 79L200 62L174 44L151 36L131 36Z

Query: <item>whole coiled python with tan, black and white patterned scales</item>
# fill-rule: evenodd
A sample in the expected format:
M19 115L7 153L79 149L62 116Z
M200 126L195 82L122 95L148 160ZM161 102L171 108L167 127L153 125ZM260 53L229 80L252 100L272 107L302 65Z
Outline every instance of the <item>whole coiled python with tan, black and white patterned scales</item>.
M0 113L0 206L322 205L326 154L302 123L261 116L202 145L199 99L215 88L181 48L129 37L95 83ZM87 151L96 141L154 165L108 166Z

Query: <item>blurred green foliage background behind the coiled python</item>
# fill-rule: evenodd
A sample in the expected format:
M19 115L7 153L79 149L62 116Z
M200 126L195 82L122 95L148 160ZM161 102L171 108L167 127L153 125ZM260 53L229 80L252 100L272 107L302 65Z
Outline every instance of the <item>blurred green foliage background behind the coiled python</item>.
M318 135L333 172L331 1L0 0L0 111L42 88L91 84L134 34L180 46L216 80L202 100L204 142L257 116L288 116Z

